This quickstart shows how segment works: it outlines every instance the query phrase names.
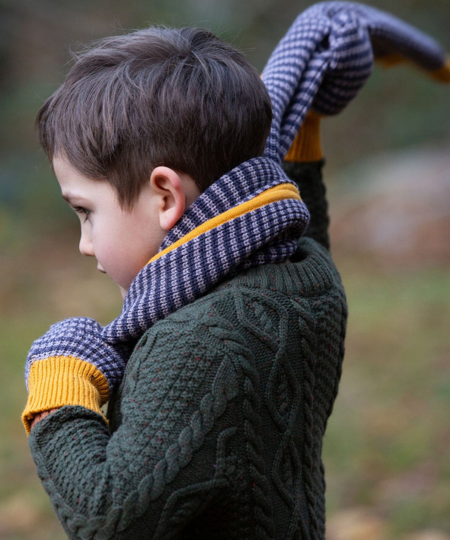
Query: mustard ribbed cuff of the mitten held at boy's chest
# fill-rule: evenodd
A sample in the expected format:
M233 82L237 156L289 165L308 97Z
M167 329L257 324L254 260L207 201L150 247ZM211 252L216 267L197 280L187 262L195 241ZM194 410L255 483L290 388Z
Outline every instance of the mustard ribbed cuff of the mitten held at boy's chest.
M100 407L109 396L108 381L103 373L75 356L51 356L33 362L28 389L28 401L22 413L28 435L38 413L64 405L81 405L102 414Z

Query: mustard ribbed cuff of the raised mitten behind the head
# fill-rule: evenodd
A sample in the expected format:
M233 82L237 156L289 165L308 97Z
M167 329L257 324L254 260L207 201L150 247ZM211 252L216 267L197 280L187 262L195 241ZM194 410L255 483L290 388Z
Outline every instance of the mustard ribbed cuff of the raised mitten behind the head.
M284 160L307 163L320 161L323 157L320 145L320 115L308 111Z

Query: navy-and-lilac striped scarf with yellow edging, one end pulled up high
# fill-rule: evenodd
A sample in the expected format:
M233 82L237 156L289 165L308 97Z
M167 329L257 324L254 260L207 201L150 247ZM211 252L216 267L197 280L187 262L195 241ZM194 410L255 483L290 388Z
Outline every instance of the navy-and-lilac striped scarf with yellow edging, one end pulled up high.
M299 15L263 72L273 107L264 157L225 174L187 209L103 328L106 342L135 341L226 276L291 257L309 215L280 163L306 112L340 112L370 76L374 54L430 72L445 65L432 38L369 6L323 2Z

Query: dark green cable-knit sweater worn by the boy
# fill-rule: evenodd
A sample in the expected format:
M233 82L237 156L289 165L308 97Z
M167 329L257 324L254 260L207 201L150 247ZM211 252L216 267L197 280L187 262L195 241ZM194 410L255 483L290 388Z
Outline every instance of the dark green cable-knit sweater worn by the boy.
M233 276L148 330L109 429L82 407L33 428L70 538L324 539L321 448L347 308L321 163L286 167L312 214L294 258Z

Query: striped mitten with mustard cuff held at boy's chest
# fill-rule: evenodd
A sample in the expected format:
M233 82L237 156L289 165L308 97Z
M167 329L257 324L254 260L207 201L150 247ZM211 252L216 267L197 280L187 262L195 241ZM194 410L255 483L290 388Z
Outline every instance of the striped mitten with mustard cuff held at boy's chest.
M64 405L101 414L127 361L125 349L105 343L101 332L93 319L66 319L33 343L25 365L29 395L22 420L27 433L36 414Z

